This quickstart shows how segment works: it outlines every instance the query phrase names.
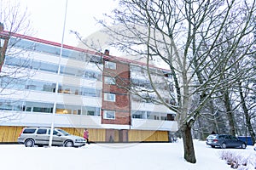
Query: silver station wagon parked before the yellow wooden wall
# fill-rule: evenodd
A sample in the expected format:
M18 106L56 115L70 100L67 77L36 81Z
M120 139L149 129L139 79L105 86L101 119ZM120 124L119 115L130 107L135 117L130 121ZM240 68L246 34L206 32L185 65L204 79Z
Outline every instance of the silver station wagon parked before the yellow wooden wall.
M34 145L44 146L49 145L50 127L24 127L18 137L20 144L25 144L26 147ZM53 131L52 145L65 147L84 146L86 140L79 136L74 136L61 128L55 128Z

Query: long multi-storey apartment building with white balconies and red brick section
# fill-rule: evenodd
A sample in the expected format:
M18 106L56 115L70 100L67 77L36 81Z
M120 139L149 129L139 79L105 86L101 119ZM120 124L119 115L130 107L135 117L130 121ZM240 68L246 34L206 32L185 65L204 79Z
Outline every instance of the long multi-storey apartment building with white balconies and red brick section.
M79 136L87 128L95 142L167 142L177 131L175 113L148 93L152 71L160 95L175 102L168 71L19 34L9 47L0 73L0 142L51 123Z

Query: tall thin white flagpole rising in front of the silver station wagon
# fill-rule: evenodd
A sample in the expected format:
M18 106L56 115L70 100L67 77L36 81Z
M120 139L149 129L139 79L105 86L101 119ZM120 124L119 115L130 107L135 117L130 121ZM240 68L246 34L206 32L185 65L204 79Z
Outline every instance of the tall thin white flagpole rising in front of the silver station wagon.
M60 74L60 71L61 71L61 57L62 57L63 42L64 42L64 35L65 35L66 18L67 18L67 0L66 0L66 7L65 7L64 24L63 24L63 30L62 30L61 52L60 52L60 57L59 57L58 75ZM57 100L58 88L59 88L59 82L56 82L55 103L54 103L54 108L53 108L53 113L52 113L52 121L51 121L51 127L50 127L50 135L49 135L49 147L52 145L53 130L55 127L55 113L56 113L56 105L57 105L56 100Z

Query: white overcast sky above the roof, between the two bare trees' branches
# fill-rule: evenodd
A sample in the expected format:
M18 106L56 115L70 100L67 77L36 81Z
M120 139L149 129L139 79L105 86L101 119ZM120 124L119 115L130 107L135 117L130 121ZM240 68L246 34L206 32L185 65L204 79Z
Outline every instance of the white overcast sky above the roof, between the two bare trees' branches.
M33 37L61 42L65 18L66 0L22 0L31 14ZM99 31L96 18L110 13L116 0L67 0L67 20L64 44L76 46L79 42L70 30L79 31L83 37Z

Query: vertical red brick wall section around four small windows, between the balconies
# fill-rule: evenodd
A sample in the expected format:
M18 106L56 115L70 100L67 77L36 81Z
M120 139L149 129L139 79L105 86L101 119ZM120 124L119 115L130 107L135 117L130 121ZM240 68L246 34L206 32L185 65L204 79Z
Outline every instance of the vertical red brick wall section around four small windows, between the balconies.
M131 124L131 101L129 91L125 88L129 86L130 65L116 60L108 59L108 62L116 64L115 69L109 69L105 66L102 73L102 124ZM105 77L112 77L116 84L108 84ZM115 94L115 101L106 101L105 93ZM115 111L114 119L106 119L104 111Z

